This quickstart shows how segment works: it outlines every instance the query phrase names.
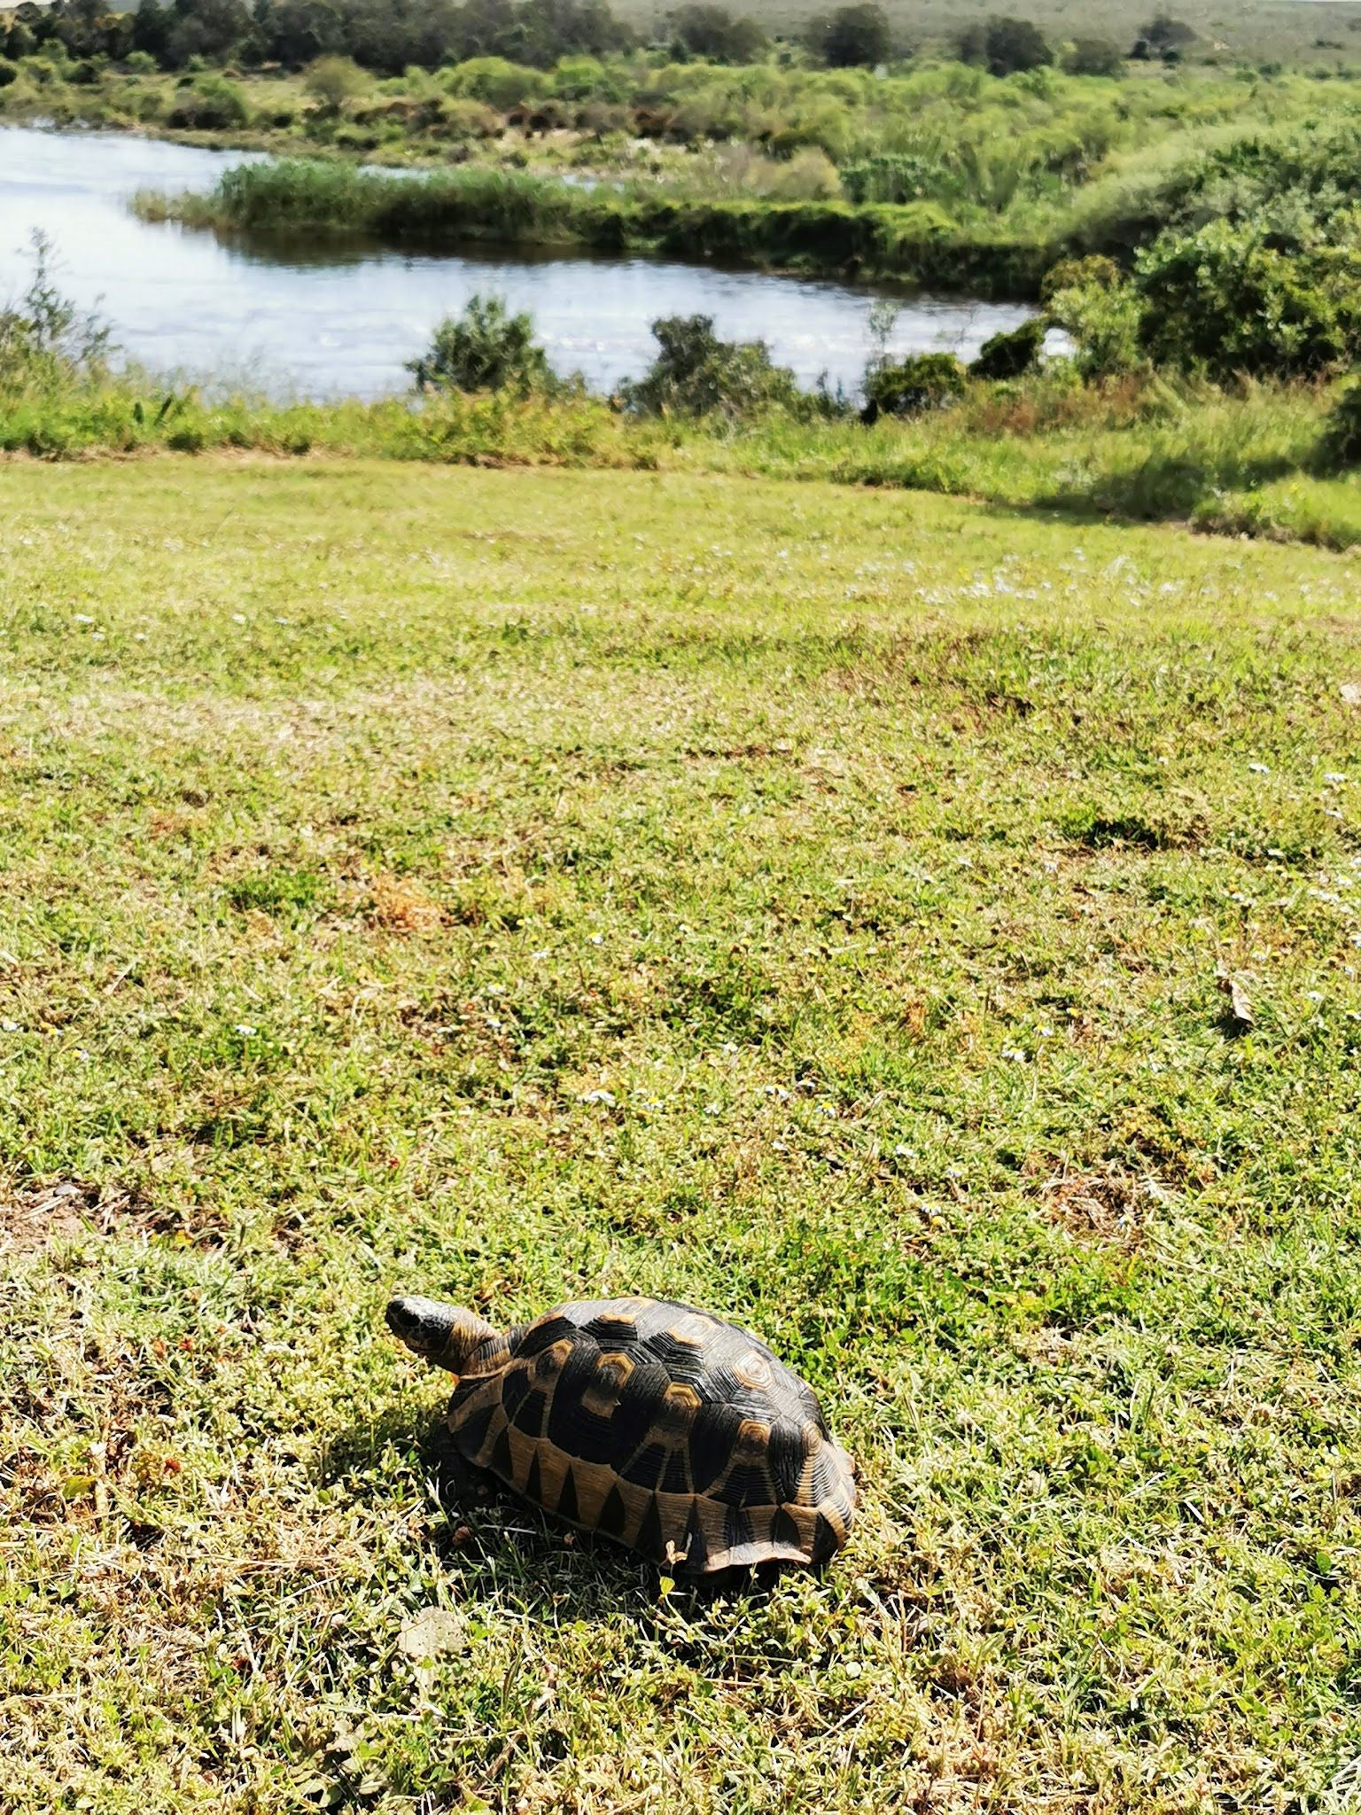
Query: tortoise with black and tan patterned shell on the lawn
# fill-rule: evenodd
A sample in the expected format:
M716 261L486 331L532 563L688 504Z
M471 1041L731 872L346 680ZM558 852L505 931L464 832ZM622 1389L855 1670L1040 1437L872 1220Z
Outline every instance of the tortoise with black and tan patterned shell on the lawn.
M813 1388L722 1318L608 1298L501 1332L394 1298L387 1321L457 1376L455 1450L572 1525L686 1575L820 1565L846 1543L853 1465Z

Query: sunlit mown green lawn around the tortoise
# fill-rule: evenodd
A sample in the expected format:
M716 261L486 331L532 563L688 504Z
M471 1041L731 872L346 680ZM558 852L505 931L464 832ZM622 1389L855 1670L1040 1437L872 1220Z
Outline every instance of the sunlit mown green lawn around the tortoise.
M1354 563L2 483L0 1808L1350 1806ZM666 1592L452 1494L394 1289L744 1320L849 1548Z

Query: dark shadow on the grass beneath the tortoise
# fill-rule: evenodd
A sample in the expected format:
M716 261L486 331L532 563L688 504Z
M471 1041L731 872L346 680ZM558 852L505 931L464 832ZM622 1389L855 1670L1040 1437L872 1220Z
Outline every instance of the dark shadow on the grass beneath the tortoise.
M394 1467L396 1463L396 1467ZM621 1610L642 1626L657 1621L662 1570L606 1537L579 1532L532 1506L485 1468L474 1468L448 1437L437 1412L410 1405L339 1430L327 1445L318 1479L343 1486L359 1503L403 1494L401 1476L417 1474L430 1506L426 1543L457 1563L470 1594L514 1594L528 1614L604 1619ZM675 1577L666 1594L671 1617L702 1619L717 1601L766 1601L791 1565Z

